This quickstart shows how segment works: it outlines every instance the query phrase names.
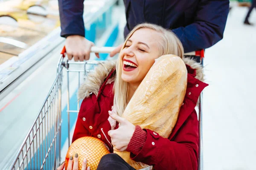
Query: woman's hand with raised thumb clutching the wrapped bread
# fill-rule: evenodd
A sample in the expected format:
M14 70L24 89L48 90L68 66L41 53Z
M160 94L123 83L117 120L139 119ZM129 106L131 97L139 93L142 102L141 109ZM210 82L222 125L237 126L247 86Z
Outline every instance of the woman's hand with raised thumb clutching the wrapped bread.
M108 111L112 119L119 122L119 127L116 130L109 130L108 135L111 137L111 143L115 151L121 152L127 149L127 146L135 131L135 126L127 119Z

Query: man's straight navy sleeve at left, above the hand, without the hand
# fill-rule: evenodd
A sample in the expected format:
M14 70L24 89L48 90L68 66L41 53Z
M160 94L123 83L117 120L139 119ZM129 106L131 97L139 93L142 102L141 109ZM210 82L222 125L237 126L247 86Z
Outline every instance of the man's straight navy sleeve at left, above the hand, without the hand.
M84 30L84 0L58 0L61 37L68 35L85 36Z

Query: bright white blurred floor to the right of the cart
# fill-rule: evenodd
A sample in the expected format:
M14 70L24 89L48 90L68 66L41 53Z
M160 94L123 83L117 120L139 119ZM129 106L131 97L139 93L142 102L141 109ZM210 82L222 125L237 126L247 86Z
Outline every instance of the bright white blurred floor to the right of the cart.
M233 8L224 39L205 53L205 170L256 169L256 26L243 25L247 10Z

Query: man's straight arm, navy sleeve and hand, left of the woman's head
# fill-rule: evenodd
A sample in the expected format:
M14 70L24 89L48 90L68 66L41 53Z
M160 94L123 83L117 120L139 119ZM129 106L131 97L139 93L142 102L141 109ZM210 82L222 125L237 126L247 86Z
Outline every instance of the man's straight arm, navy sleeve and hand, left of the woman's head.
M61 37L67 38L65 47L67 57L75 61L90 59L91 47L93 42L87 40L84 29L84 0L58 0ZM99 54L96 54L99 58Z

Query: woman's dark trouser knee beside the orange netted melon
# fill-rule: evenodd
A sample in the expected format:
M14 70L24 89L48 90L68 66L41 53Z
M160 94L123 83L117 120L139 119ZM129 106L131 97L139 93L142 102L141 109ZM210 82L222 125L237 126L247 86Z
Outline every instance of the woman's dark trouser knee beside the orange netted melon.
M109 153L102 156L97 170L135 170L116 153Z

